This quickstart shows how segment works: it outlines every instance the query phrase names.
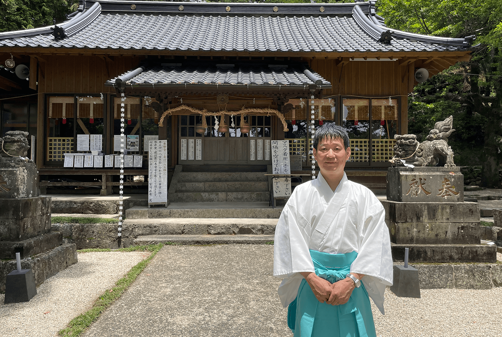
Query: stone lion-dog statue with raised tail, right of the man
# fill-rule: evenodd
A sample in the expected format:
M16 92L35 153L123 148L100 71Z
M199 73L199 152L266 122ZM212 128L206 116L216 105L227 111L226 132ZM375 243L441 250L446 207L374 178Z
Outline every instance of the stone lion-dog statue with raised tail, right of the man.
M419 143L415 135L395 135L396 145L394 152L396 156L389 161L392 166L455 166L453 163L453 151L448 146L448 137L454 129L453 116L442 122L437 122L434 129L429 132L427 140Z

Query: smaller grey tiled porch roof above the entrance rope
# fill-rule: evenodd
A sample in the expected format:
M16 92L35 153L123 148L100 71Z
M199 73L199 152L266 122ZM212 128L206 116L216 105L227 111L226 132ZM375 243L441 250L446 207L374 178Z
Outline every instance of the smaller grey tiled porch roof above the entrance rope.
M176 84L316 86L328 88L331 83L307 65L282 64L145 64L107 81L131 86L169 86Z

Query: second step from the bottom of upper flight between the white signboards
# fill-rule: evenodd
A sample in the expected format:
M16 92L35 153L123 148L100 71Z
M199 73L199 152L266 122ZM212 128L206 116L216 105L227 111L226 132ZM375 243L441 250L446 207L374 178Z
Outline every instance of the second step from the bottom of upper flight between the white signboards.
M179 182L177 193L186 192L268 192L267 181Z

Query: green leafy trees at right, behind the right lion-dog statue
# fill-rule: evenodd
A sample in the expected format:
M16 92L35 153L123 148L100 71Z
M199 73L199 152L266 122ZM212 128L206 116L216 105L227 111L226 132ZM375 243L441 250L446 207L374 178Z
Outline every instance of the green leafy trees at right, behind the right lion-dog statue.
M502 162L502 6L499 0L379 0L379 15L395 29L418 34L476 35L469 62L457 63L415 87L410 133L423 137L453 115L451 144L460 164L482 161L482 183L500 187ZM458 148L455 148L458 146Z

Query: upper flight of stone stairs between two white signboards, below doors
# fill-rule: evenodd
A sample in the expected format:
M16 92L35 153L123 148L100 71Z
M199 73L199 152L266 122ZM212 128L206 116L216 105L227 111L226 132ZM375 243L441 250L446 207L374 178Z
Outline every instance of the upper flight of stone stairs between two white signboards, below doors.
M200 169L205 169L201 166ZM225 169L222 167L221 170ZM217 170L217 168L215 168ZM266 172L186 172L178 165L169 187L171 202L257 202L270 198Z

